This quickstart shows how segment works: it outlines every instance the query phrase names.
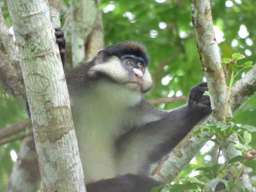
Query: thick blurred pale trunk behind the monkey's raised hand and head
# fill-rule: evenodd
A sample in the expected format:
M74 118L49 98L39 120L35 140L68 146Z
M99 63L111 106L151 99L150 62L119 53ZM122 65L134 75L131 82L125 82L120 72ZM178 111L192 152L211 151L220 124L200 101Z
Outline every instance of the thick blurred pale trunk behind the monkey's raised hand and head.
M67 42L65 71L69 71L91 61L103 48L103 25L100 0L74 0L65 12L69 15L62 30Z

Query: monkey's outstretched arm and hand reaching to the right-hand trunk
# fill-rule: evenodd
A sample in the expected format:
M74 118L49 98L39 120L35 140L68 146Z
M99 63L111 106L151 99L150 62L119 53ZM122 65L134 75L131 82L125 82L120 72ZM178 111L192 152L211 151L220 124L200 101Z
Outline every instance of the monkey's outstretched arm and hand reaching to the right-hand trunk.
M191 90L187 105L161 113L159 120L122 135L116 143L119 172L148 175L150 165L161 160L204 115L211 112L210 99L203 95L204 90L207 90L207 84L199 84Z

